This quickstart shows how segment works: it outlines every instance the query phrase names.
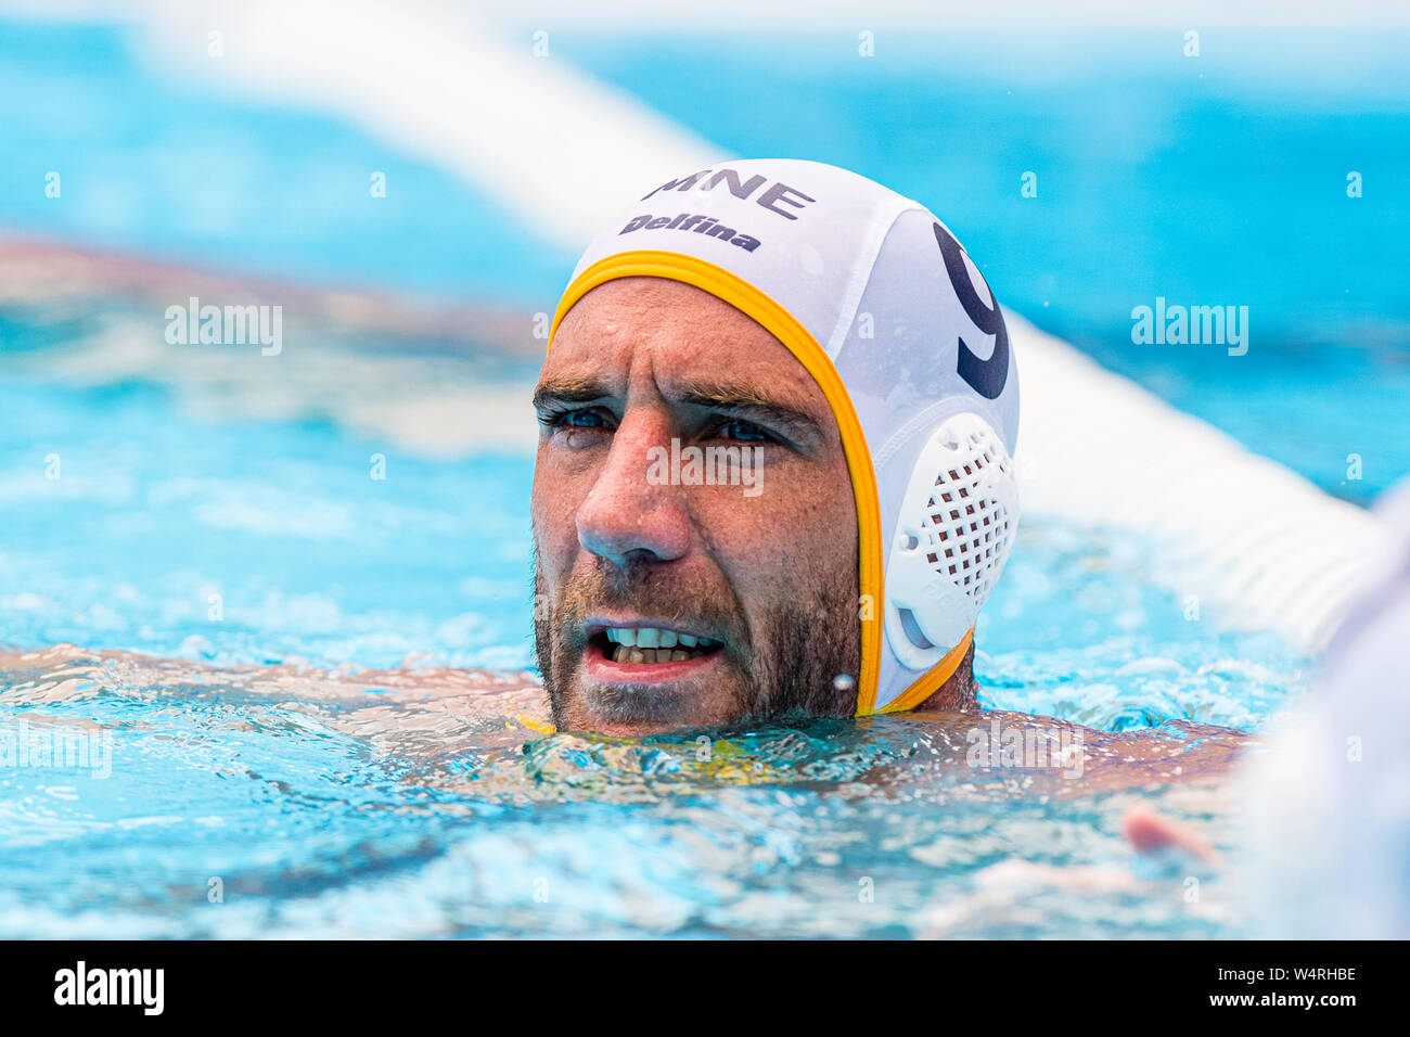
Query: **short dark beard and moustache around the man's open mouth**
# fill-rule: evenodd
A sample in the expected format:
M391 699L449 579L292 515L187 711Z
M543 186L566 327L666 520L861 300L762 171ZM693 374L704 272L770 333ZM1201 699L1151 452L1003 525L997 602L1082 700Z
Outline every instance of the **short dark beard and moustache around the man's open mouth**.
M594 684L589 693L582 691L582 626L589 617L611 611L637 612L721 641L726 680L733 684L730 722L840 717L856 708L862 638L850 578L825 580L811 591L795 590L781 602L756 610L752 628L728 584L713 593L685 588L654 562L618 566L589 556L568 576L558 597L548 600L536 552L534 601L534 653L560 731L571 727L572 714L661 729L701 725L691 722L691 701L682 700L680 687L622 683ZM852 676L850 686L836 681L839 674Z

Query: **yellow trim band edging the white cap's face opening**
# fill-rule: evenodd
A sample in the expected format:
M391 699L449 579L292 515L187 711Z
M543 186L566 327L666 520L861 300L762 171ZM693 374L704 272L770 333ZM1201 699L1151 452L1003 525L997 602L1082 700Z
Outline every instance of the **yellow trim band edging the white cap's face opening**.
M713 262L694 255L666 251L618 253L598 260L582 271L558 301L558 309L548 330L548 348L563 317L572 305L601 284L629 277L657 277L681 281L709 292L735 309L753 317L778 341L788 347L804 365L838 418L842 449L852 477L852 495L857 502L857 583L863 601L870 595L870 619L862 621L862 674L857 680L857 715L876 710L877 681L881 673L881 502L877 499L876 471L871 450L862 433L862 420L852 405L852 396L842 384L842 375L812 333L774 299L742 277Z

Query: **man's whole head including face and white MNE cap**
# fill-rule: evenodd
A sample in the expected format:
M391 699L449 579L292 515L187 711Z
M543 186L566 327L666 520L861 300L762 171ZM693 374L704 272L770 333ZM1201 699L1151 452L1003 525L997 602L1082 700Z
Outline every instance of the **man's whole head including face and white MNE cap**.
M536 394L558 725L966 705L1017 402L997 305L916 203L783 159L650 192L580 261Z

